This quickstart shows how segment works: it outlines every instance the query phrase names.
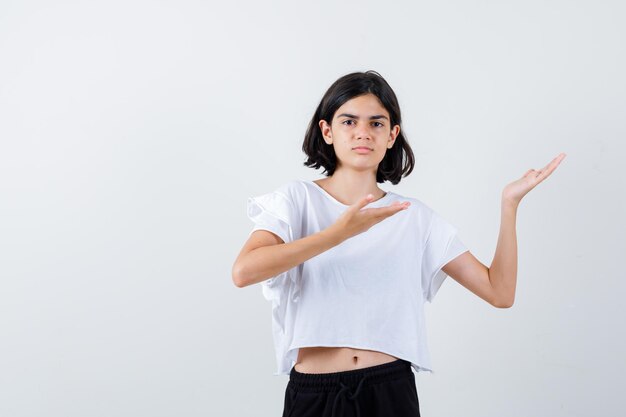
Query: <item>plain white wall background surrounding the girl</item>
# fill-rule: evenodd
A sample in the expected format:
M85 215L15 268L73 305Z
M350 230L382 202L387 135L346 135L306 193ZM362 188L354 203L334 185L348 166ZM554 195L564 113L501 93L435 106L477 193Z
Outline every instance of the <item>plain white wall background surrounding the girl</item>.
M301 4L300 4L301 3ZM0 415L278 416L270 304L231 268L340 76L395 90L417 197L515 305L448 279L422 415L618 416L626 372L619 1L0 3Z

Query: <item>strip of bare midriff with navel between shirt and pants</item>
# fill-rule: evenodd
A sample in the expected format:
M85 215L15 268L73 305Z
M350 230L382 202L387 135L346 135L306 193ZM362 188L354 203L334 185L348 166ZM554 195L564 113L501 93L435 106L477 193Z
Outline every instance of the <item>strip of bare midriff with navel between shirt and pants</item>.
M382 365L397 359L395 356L375 350L327 346L301 347L295 369L307 374L323 374Z

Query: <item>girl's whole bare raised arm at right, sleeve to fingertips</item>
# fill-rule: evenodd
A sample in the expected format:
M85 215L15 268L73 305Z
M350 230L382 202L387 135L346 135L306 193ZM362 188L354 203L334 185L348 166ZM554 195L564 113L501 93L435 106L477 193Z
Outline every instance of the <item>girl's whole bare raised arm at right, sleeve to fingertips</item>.
M565 158L561 153L543 169L530 169L502 192L500 234L491 267L483 265L469 251L457 256L443 268L459 284L498 308L509 308L515 300L517 284L517 236L515 222L522 198L546 179Z

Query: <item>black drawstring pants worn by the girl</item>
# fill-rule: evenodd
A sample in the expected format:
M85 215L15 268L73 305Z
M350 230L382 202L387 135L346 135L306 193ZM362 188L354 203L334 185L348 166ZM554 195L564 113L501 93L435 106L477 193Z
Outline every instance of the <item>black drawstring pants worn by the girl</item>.
M419 417L411 363L307 374L291 368L282 417Z

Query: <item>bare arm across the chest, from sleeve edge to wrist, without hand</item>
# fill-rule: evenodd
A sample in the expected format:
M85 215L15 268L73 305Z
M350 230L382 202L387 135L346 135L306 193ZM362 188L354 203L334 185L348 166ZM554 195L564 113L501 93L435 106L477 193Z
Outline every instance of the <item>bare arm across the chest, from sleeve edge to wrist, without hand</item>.
M345 239L330 226L312 235L284 243L267 230L255 230L233 265L233 282L247 287L304 263Z

